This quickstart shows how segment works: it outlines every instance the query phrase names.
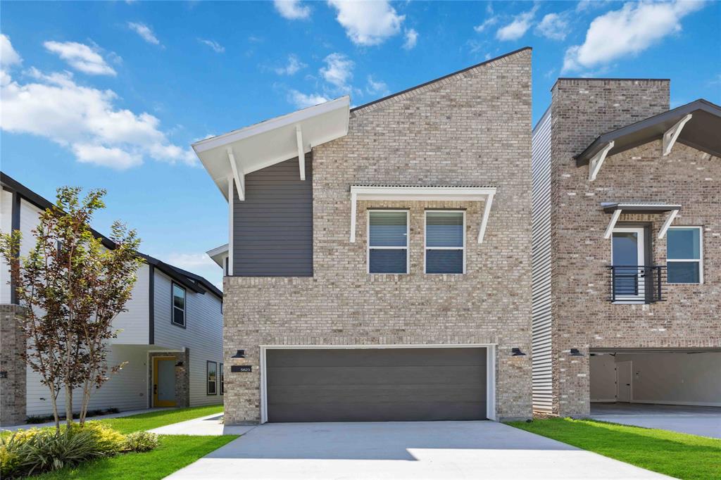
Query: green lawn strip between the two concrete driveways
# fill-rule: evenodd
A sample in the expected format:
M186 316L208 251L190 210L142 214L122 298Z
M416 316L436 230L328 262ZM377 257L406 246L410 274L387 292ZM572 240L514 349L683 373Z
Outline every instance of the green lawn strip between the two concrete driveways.
M721 479L719 439L570 418L508 425L678 479Z

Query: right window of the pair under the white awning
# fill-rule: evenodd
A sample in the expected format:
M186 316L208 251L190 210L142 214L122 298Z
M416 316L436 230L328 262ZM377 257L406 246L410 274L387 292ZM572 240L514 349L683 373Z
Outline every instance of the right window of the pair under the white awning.
M464 273L466 270L466 213L425 212L425 272Z

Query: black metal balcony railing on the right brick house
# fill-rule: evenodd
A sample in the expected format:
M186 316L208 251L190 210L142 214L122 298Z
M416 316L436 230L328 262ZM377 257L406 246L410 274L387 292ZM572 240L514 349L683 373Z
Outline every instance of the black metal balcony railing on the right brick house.
M606 268L610 274L612 302L655 303L665 300L665 265L613 265Z

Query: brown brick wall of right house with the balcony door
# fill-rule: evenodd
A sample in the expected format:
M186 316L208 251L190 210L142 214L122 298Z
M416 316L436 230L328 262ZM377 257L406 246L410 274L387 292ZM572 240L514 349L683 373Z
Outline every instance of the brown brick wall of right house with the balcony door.
M598 347L721 347L721 159L676 143L661 156L653 141L606 158L588 182L579 154L601 133L668 110L668 81L560 80L554 87L552 131L552 311L554 412L590 408L588 349ZM674 226L704 227L704 284L668 285L667 301L609 301L611 215L602 202L680 203ZM653 263L665 265L659 215L622 215L652 222ZM619 224L619 226L621 226ZM579 348L584 357L570 357Z

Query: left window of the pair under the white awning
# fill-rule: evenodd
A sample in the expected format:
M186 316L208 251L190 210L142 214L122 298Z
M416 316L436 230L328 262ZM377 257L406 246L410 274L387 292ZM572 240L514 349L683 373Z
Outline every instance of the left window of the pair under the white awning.
M407 210L368 210L368 273L408 273Z

